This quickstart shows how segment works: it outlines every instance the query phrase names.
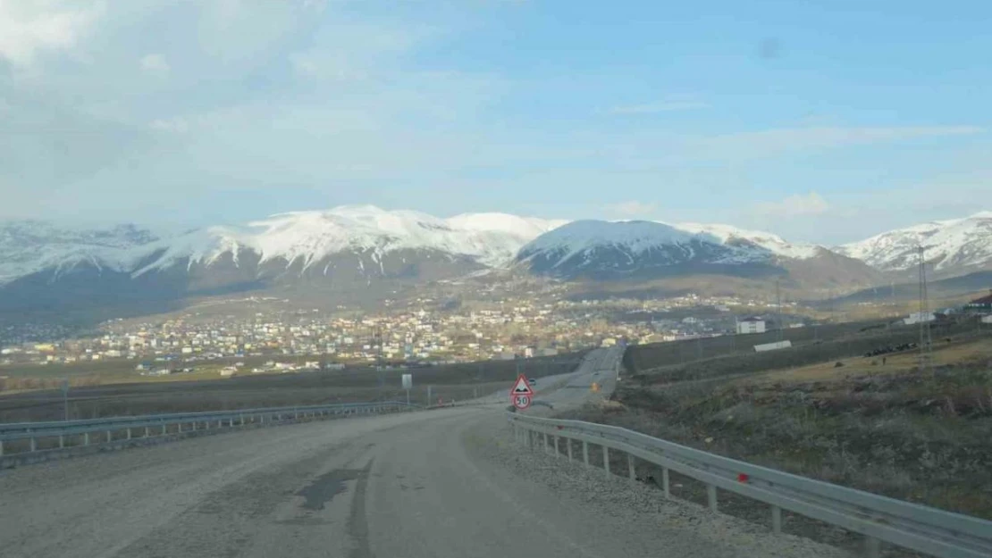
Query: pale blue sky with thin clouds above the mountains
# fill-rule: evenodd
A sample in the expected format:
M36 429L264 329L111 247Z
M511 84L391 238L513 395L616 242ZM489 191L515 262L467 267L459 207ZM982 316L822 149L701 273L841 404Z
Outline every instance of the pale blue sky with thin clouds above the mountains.
M342 204L834 245L992 209L984 0L0 0L0 218Z

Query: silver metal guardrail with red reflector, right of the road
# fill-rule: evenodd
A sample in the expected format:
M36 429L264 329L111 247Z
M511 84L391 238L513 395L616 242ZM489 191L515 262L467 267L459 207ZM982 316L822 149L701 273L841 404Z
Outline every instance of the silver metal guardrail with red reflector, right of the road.
M782 531L782 510L788 509L865 536L865 553L875 558L880 541L940 558L992 556L992 521L952 513L918 503L903 502L854 489L806 479L685 447L617 426L578 420L558 420L507 413L516 439L536 446L544 438L546 451L558 457L558 440L582 442L589 466L588 444L603 448L603 468L610 477L609 449L627 454L628 474L634 482L635 459L662 468L662 490L670 498L669 471L706 484L709 508L717 508L717 489L771 505L772 528Z

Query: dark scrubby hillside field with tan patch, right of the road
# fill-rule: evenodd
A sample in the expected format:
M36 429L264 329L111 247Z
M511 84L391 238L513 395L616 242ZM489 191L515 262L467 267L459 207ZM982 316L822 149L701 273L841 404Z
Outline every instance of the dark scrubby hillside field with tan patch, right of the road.
M919 351L864 356L915 338L916 327L866 326L838 327L832 338L793 349L728 349L667 365L654 359L691 349L631 347L625 364L644 368L627 369L613 401L568 417L992 519L992 331L968 321L934 327L930 366L922 370ZM640 476L660 478L647 470ZM701 485L677 477L677 496L705 502ZM767 506L733 495L721 494L720 507L769 522ZM787 530L841 546L857 542L799 516L790 516Z

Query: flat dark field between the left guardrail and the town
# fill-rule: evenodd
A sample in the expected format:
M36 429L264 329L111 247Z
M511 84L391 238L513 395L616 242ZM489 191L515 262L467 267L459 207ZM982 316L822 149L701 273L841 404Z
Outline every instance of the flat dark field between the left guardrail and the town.
M413 375L413 403L434 403L482 396L507 389L520 372L529 377L543 378L571 371L581 354L559 355L520 361L487 361L464 365L447 365L422 369L385 370L381 374L371 369L287 374L245 374L220 379L210 374L208 379L175 380L187 375L165 377L171 381L138 377L131 370L126 378L133 382L115 380L122 371L87 372L65 375L56 367L42 369L45 376L28 376L20 371L6 382L38 382L43 386L58 386L63 377L70 379L68 393L69 418L186 412L264 406L292 406L330 402L406 400L401 387L401 375ZM120 368L120 367L118 367ZM133 368L133 367L132 367ZM90 369L91 370L91 369ZM7 374L6 371L3 374ZM105 376L101 376L105 375ZM381 384L380 384L381 378ZM138 381L140 379L140 381ZM430 388L431 398L428 398ZM28 420L62 420L64 415L62 391L30 390L0 396L0 422Z

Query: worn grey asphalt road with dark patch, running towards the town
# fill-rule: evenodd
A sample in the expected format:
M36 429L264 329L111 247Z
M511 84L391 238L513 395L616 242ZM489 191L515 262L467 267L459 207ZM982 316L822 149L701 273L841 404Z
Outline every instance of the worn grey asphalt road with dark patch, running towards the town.
M588 386L610 375L612 354L598 352L539 397L602 396ZM829 554L530 454L510 442L506 402L261 428L5 471L0 556Z

